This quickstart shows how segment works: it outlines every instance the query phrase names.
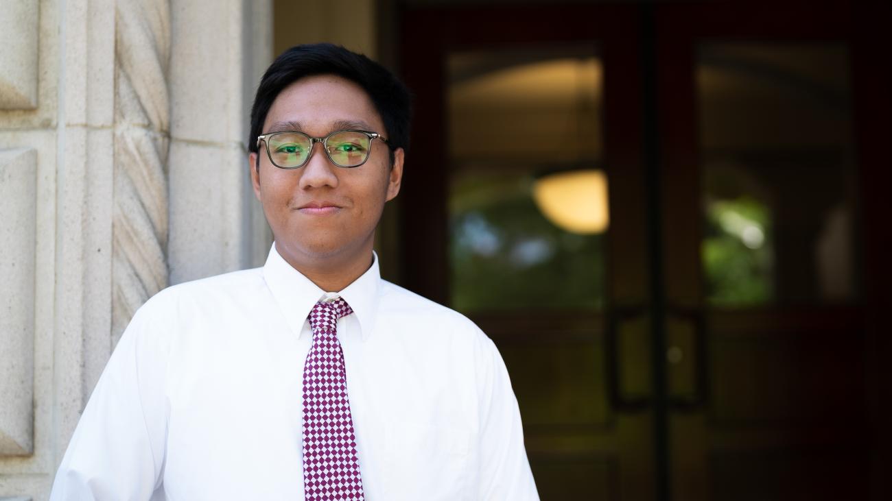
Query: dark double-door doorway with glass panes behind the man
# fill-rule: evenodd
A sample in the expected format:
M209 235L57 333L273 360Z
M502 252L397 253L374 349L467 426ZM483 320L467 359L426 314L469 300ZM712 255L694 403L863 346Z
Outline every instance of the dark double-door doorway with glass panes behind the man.
M401 13L401 275L499 346L542 499L880 498L870 49L810 8ZM607 226L543 206L596 172Z

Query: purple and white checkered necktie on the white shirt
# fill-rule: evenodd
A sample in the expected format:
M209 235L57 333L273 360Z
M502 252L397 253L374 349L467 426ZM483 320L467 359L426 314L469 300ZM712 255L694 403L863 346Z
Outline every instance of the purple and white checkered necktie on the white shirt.
M363 501L356 436L347 399L337 320L353 313L341 298L310 311L313 345L303 365L303 489L306 501Z

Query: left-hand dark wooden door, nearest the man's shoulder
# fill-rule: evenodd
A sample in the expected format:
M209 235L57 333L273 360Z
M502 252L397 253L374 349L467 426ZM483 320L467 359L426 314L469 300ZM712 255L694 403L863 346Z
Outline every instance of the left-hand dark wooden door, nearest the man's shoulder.
M401 192L402 276L410 289L467 313L498 345L542 499L655 498L653 414L640 404L649 391L648 323L646 312L635 309L648 291L637 19L633 7L580 4L411 9L401 19L401 72L416 94ZM549 100L559 107L564 99L560 84L549 90L549 75L574 66L580 70L571 70L578 75L571 78L581 78L579 108L585 112L564 120L546 107ZM501 78L508 74L524 77ZM516 107L507 100L506 108L487 111L498 106L492 101L504 101L492 86L527 78L541 81L542 88L523 91L541 100L541 110L530 109L539 101L518 98ZM458 96L451 90L469 86ZM485 92L490 94L481 98ZM467 105L468 99L476 101ZM532 114L518 118L526 112ZM493 133L493 127L510 132ZM488 149L506 137L514 148ZM529 195L517 195L518 183L529 181L536 168L587 161L607 171L606 234L536 234L516 227L547 225L531 213ZM504 189L487 188L500 185ZM482 197L506 201L480 202ZM483 214L473 220L463 209L472 202ZM463 256L480 257L497 243L513 245L527 261L549 242L594 250L582 263L578 255L560 254L558 259L575 264L552 262L546 275L514 275L517 267L504 273L477 268L485 278L463 271L453 250L468 234L456 226L498 226L497 210L524 214L523 222L499 226L501 242L472 242L483 250ZM511 259L488 262L507 267ZM598 290L577 287L575 275L591 276ZM537 292L538 305L528 301Z

